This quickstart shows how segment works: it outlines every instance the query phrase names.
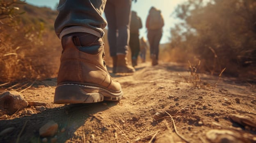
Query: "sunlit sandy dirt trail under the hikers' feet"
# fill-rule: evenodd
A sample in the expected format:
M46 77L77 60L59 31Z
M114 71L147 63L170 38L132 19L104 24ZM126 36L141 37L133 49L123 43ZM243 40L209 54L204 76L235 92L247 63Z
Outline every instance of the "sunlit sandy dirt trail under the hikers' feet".
M59 131L49 137L48 142L53 138L57 138L58 143L149 142L154 134L155 143L185 142L175 133L167 113L174 118L178 133L191 143L210 142L206 134L212 129L238 132L241 141L256 142L255 128L230 119L232 114L256 118L256 92L247 83L222 78L216 88L210 89L207 85L216 83L218 77L200 74L206 86L197 89L186 82L187 70L174 63L154 67L143 63L133 75L112 76L122 85L124 97L120 102L55 105L56 79L37 82L23 95L27 101L46 103L46 111L28 107L34 112L31 116L21 115L22 111L10 116L1 114L0 131L7 127L15 127L15 130L0 136L0 142L16 142L18 134L21 134L20 143L41 142L39 128L50 120L58 123ZM235 98L239 98L240 103ZM157 112L164 118L156 121Z

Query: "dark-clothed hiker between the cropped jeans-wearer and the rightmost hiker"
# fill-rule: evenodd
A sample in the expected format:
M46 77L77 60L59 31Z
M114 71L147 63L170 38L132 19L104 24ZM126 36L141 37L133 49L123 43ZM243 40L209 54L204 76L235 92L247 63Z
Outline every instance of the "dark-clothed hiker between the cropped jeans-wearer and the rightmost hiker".
M132 11L132 17L130 22L130 49L132 53L132 65L137 65L137 58L139 55L139 29L142 28L142 22L135 11Z

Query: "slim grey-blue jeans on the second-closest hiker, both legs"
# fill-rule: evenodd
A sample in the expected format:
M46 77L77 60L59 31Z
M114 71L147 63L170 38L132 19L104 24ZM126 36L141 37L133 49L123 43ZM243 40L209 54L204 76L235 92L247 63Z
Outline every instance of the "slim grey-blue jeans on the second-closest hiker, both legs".
M108 24L110 56L127 54L130 39L131 0L107 0L105 15Z

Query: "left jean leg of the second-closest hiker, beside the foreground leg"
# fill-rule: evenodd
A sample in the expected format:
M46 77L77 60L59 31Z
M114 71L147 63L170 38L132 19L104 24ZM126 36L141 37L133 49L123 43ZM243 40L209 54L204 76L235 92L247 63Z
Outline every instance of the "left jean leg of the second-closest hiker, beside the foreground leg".
M107 38L110 46L110 56L117 56L117 22L115 16L115 5L107 2L105 6L105 16L107 18Z

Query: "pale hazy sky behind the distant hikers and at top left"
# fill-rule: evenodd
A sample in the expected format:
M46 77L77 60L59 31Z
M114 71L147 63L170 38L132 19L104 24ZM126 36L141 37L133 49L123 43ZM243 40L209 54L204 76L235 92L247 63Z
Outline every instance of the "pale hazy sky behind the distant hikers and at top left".
M154 6L162 11L162 15L165 20L165 26L163 28L163 36L160 43L169 42L170 27L174 27L174 23L178 22L171 13L175 10L175 7L186 0L137 0L132 3L132 10L137 11L138 16L142 19L143 28L140 29L140 36L146 37L145 22L150 7ZM36 6L47 6L55 9L59 0L26 0L27 3Z

